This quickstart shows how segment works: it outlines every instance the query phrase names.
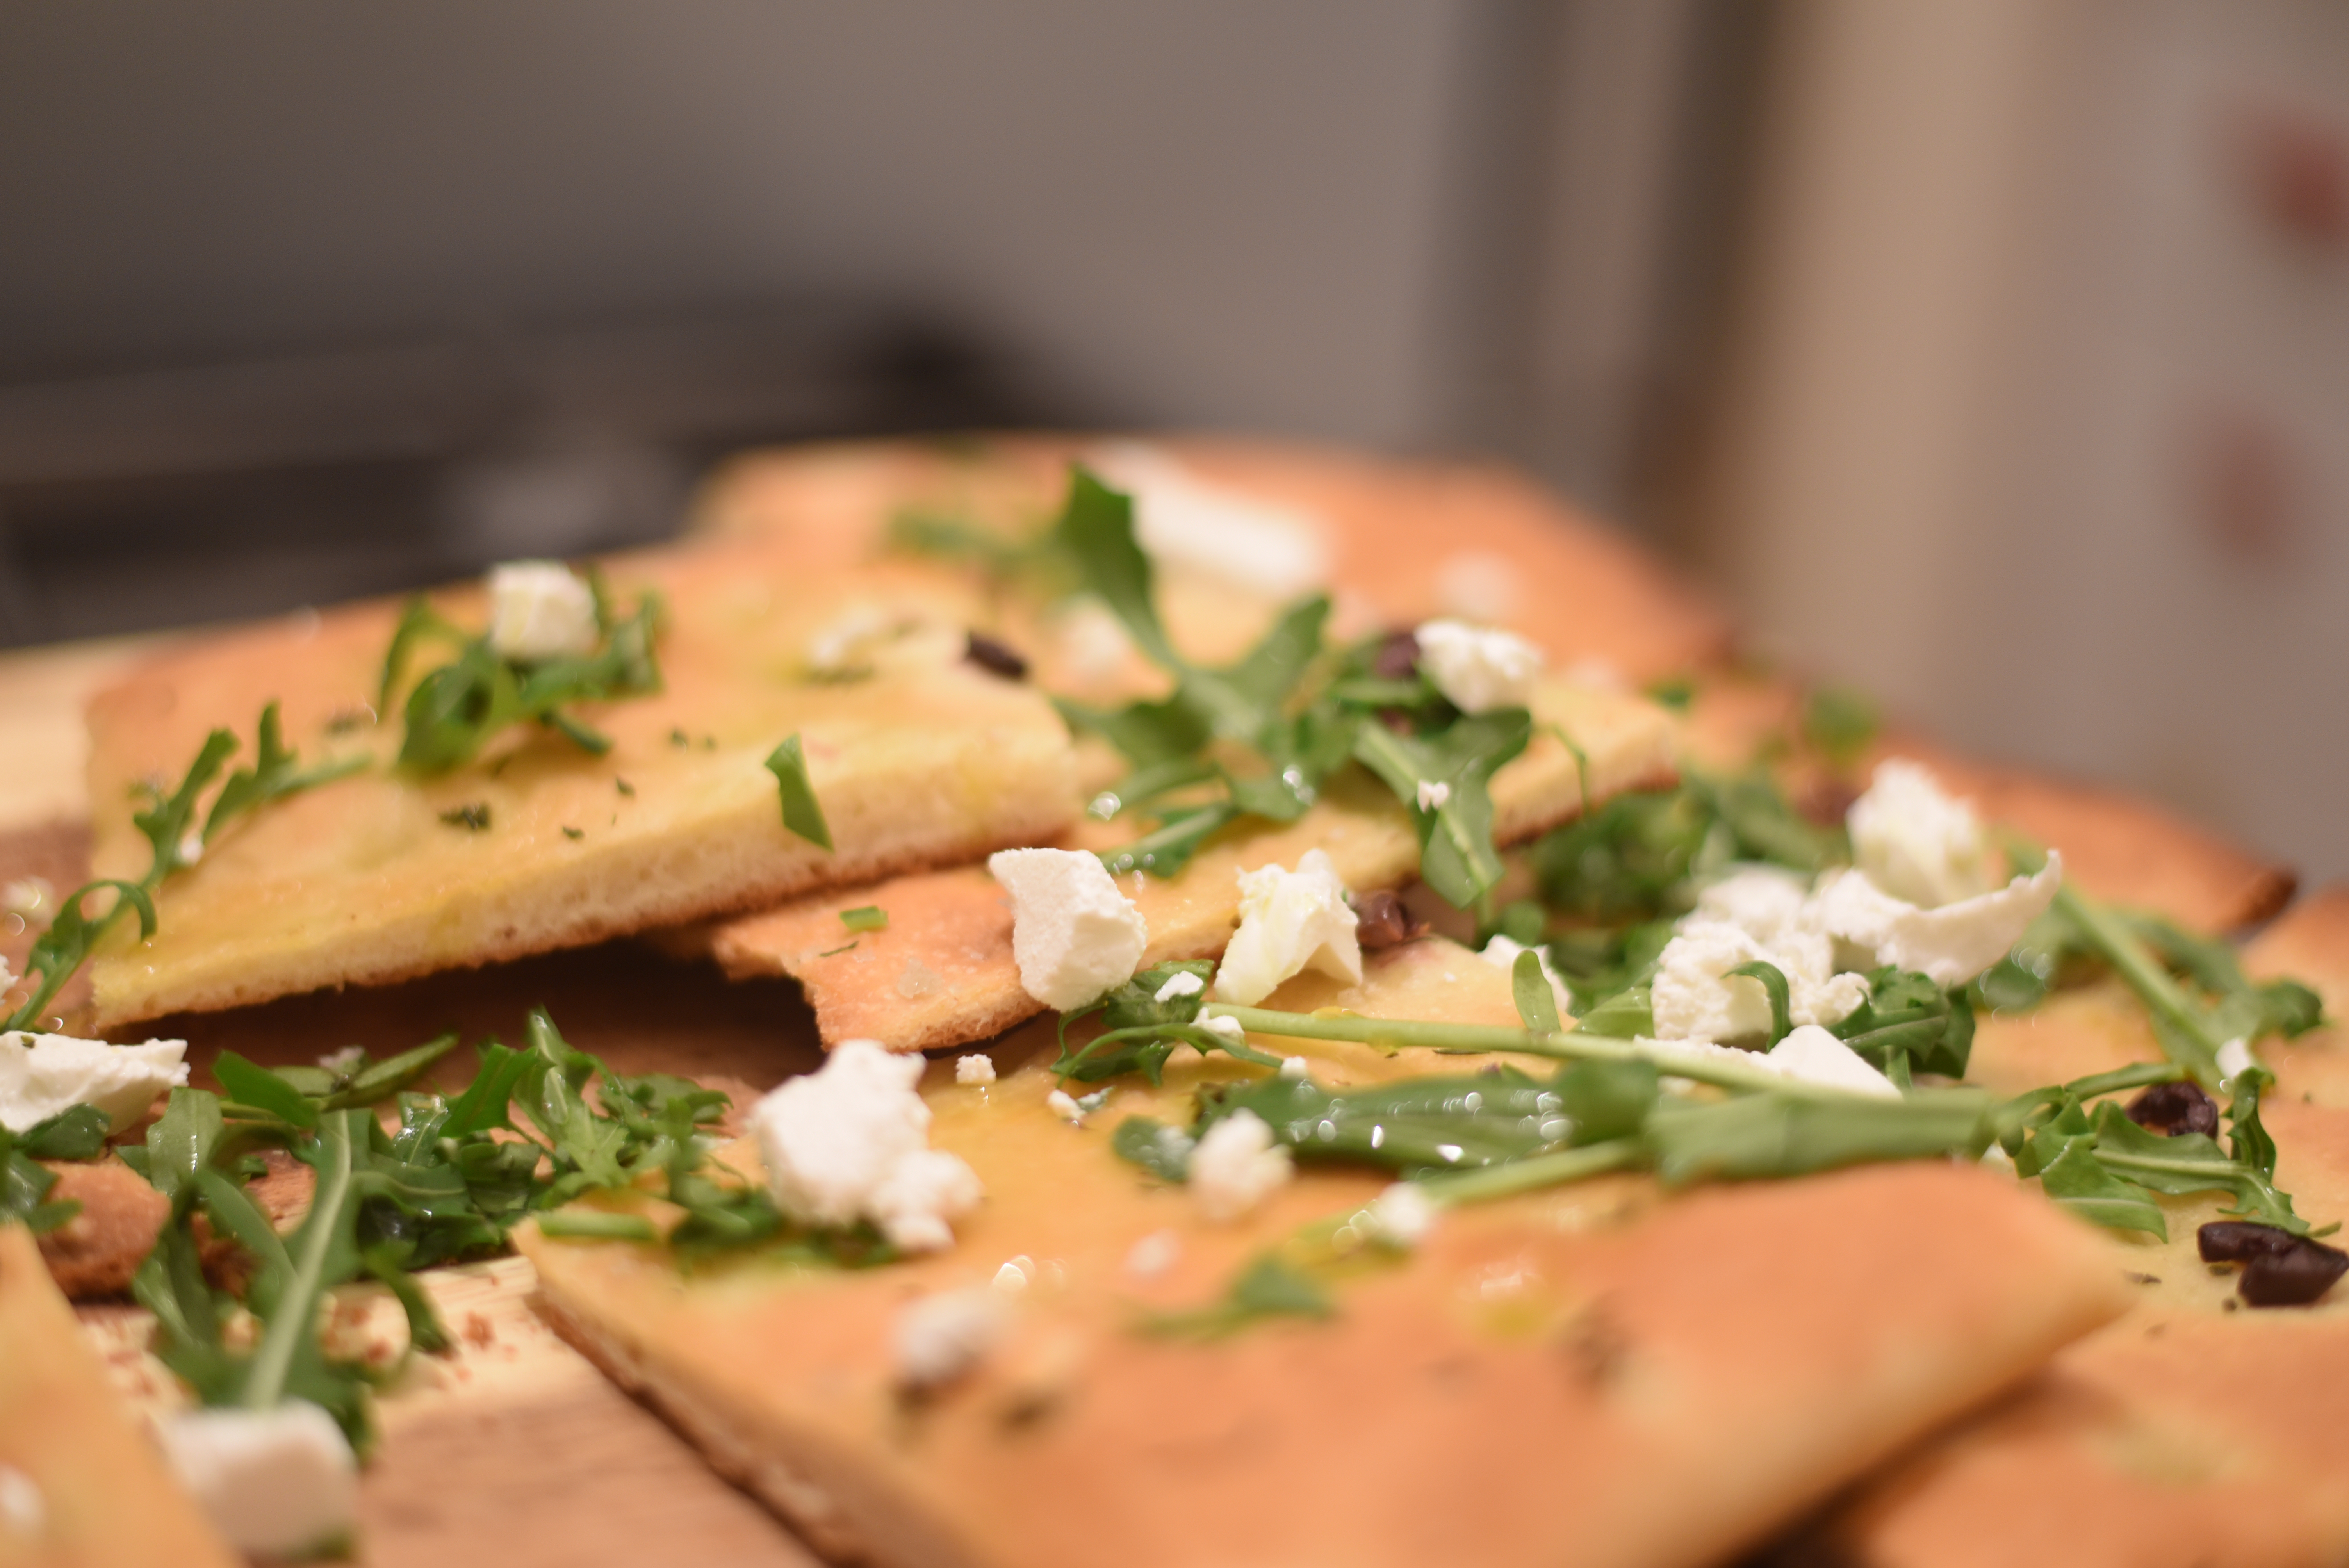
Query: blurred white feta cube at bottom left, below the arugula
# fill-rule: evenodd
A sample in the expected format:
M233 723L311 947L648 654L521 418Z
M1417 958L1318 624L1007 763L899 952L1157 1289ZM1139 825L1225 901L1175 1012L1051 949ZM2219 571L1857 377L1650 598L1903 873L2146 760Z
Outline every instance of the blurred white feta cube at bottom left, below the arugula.
M350 1535L359 1460L308 1399L270 1411L186 1411L157 1430L197 1507L240 1552L296 1556Z

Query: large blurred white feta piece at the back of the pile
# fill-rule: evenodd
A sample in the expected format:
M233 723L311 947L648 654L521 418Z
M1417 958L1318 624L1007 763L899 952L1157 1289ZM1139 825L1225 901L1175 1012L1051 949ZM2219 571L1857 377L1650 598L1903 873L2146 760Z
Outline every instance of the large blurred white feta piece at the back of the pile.
M1330 547L1313 514L1210 484L1130 441L1097 448L1092 460L1109 484L1135 498L1135 540L1156 561L1266 599L1297 599L1327 582Z

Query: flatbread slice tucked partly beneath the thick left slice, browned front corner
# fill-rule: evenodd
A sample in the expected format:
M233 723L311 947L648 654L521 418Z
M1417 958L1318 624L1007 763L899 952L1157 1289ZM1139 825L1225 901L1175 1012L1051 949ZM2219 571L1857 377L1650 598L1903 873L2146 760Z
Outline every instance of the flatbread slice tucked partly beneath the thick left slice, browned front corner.
M1586 784L1590 800L1607 800L1672 777L1672 728L1654 704L1546 683L1534 718L1534 742L1492 782L1494 843L1532 838L1576 815ZM1550 723L1581 746L1588 782L1574 753L1539 728ZM1125 880L1151 932L1144 962L1221 953L1238 920L1240 871L1273 861L1294 866L1315 847L1358 892L1400 887L1419 871L1409 817L1360 772L1341 775L1292 824L1238 829L1210 840L1179 876ZM1104 850L1132 833L1123 824L1085 822L1069 843ZM888 911L888 930L850 937L841 911L857 906ZM691 941L735 979L787 974L801 981L827 1045L862 1038L895 1052L940 1049L987 1040L1043 1012L1043 1002L1019 988L1010 908L984 866L794 899Z

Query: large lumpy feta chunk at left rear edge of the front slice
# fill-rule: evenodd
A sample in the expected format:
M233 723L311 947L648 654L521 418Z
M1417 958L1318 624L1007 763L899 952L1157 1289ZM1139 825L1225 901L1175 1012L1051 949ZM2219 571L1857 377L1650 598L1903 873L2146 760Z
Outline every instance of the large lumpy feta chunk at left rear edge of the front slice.
M954 1242L949 1218L977 1207L980 1178L933 1150L921 1056L843 1040L815 1073L792 1077L749 1113L775 1202L810 1225L871 1221L904 1251Z

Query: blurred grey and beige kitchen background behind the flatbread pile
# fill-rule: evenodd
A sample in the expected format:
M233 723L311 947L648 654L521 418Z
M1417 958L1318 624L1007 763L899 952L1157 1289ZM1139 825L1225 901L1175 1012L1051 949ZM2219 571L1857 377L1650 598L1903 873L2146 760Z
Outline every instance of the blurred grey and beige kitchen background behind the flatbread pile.
M0 0L0 643L1015 423L1506 455L2349 873L2340 5Z

